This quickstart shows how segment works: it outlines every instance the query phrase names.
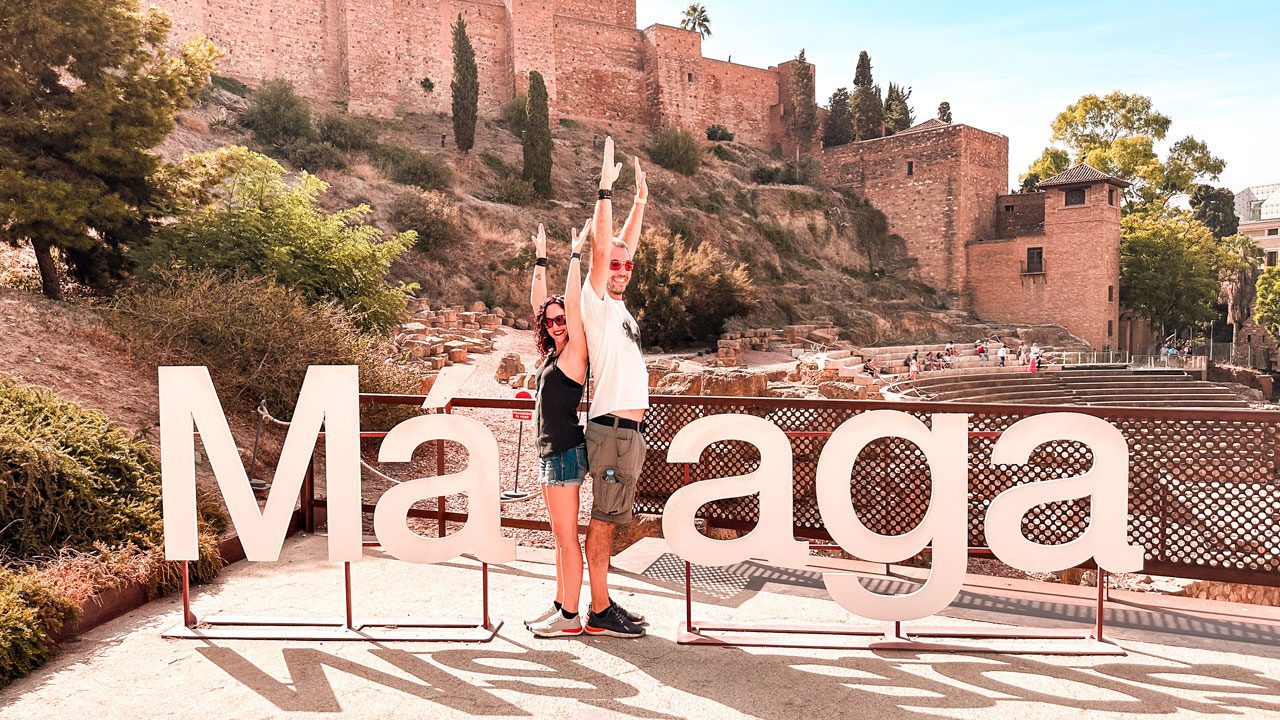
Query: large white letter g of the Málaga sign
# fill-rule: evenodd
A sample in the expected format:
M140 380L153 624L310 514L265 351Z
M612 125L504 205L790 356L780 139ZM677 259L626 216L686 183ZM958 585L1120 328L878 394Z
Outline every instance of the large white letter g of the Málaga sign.
M924 584L904 594L868 591L852 573L824 573L827 592L845 610L873 620L913 620L951 605L964 585L968 541L969 416L933 415L933 429L906 413L870 410L836 428L818 460L822 524L846 551L872 562L897 562L933 543L933 568ZM909 439L929 464L929 507L920 524L901 536L873 533L849 500L849 477L858 455L874 439Z

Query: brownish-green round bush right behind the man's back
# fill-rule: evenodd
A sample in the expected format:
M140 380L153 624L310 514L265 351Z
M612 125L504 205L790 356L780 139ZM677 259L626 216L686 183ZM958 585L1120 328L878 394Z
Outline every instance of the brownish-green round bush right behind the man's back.
M754 292L746 268L722 251L649 232L626 301L644 342L667 347L718 337L731 316L750 310Z

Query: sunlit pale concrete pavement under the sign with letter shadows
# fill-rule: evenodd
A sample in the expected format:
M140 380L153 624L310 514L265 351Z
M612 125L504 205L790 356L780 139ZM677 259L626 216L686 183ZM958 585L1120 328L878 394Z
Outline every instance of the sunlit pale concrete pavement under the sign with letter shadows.
M340 619L342 569L324 552L323 538L302 537L279 564L228 568L201 588L196 610ZM667 562L660 541L645 541L618 557L616 597L649 615L649 637L547 641L521 619L549 601L549 559L522 548L517 562L493 569L493 610L506 625L486 644L172 641L160 634L179 621L179 603L155 602L0 691L0 717L1280 717L1275 609L1115 593L1107 618L1125 657L685 647L675 642L678 587L640 574L682 566ZM705 580L698 615L855 621L815 575L746 570ZM357 615L479 611L468 560L415 566L371 552L353 578ZM1092 619L1091 588L970 579L928 624Z

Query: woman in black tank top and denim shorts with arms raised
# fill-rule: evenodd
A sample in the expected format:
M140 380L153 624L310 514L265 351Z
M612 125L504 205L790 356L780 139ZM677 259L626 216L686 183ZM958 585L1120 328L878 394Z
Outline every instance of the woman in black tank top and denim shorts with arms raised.
M591 223L573 241L564 295L547 296L547 231L538 225L532 288L539 369L535 401L543 501L556 536L556 601L525 624L540 637L582 634L577 612L582 592L582 546L577 538L579 491L586 477L586 443L577 406L586 382L586 333L582 331L581 250Z

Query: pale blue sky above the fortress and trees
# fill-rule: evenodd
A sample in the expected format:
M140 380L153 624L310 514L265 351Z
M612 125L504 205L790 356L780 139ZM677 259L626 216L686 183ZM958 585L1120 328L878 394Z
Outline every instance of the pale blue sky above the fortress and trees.
M639 26L680 24L687 0L637 0ZM1074 0L988 4L705 0L708 58L769 67L801 47L818 102L872 74L913 87L916 122L952 119L1009 136L1010 184L1048 142L1050 123L1087 94L1147 95L1226 160L1219 184L1280 181L1280 3ZM732 123L726 123L732 127Z

